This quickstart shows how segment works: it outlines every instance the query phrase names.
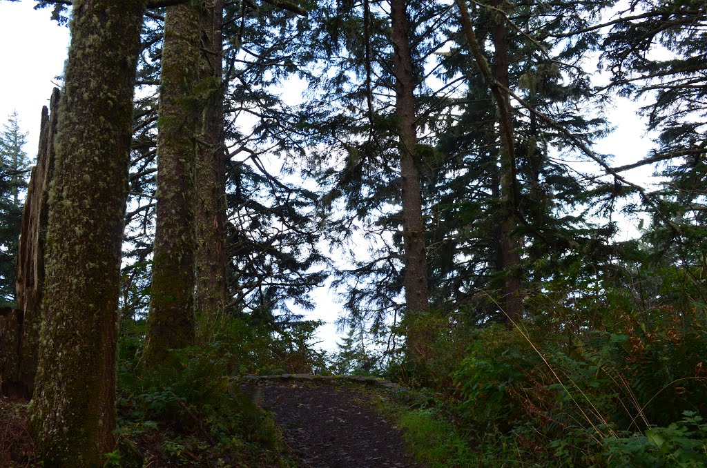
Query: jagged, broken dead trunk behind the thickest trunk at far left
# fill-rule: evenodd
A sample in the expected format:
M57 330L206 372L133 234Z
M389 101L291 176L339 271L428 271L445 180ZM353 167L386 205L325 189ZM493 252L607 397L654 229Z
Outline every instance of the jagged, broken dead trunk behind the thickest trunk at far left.
M27 189L17 255L17 309L0 319L0 380L2 393L30 398L37 373L37 351L42 326L45 281L45 242L49 185L54 172L54 135L57 130L59 90L54 88L49 110L42 109L37 163Z

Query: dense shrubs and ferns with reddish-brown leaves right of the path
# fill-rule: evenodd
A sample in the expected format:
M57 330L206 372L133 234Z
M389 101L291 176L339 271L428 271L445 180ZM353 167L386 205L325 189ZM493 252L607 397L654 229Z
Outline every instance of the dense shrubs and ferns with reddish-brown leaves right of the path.
M489 465L698 466L681 463L707 448L703 315L604 314L614 329L571 340L533 324L474 333L454 378L462 425Z

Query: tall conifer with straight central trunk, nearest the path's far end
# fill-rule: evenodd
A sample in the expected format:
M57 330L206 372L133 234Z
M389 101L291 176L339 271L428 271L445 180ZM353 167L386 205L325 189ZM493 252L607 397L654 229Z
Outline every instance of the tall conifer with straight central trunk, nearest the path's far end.
M433 139L429 129L438 128L431 108L445 100L444 92L426 86L424 66L439 47L436 26L446 7L394 6L388 11L375 1L317 5L306 57L314 65L315 98L303 116L317 122L307 127L310 143L327 148L309 161L324 182L321 216L329 239L347 255L357 231L375 239L369 252L351 249L354 267L341 269L336 284L346 291L351 319L370 319L381 331L385 327L378 325L399 320L404 308L411 319L429 308L421 193L428 161L419 148ZM330 211L332 206L344 211ZM414 341L409 337L411 350L418 347Z

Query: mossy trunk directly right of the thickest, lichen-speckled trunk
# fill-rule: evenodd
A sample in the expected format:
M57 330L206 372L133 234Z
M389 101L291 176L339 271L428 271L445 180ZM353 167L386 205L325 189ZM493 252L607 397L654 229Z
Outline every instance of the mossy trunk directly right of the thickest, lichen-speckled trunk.
M162 49L157 137L157 222L152 297L143 362L163 363L170 349L194 344L197 123L194 86L201 57L198 2L169 6Z

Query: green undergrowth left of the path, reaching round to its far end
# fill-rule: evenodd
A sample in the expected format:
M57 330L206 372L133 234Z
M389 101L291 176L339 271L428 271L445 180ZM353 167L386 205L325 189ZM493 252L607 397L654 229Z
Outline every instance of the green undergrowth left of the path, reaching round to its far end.
M250 317L224 317L198 346L170 353L156 368L141 364L144 322L124 320L119 342L120 450L108 460L143 466L289 466L279 430L240 390L247 373L312 372L324 367L310 342L316 322L281 334Z

